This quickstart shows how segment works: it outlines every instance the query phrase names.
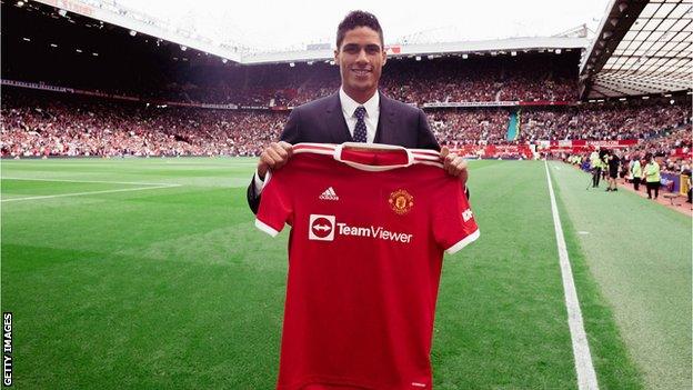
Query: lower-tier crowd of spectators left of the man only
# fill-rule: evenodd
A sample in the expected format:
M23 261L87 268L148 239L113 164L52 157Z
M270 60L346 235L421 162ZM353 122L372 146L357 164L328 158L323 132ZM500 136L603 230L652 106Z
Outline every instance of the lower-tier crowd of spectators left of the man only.
M62 98L4 94L2 156L257 156L287 120L285 112Z

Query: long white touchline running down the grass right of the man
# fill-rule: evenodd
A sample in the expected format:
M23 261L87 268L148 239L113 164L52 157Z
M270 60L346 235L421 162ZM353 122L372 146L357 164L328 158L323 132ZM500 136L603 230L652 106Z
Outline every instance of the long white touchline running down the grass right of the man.
M549 182L549 193L551 194L551 212L553 213L553 227L556 233L556 243L559 247L559 258L561 260L561 277L563 278L563 292L565 293L565 307L568 309L568 324L571 331L571 340L573 342L573 357L575 359L575 370L578 371L578 388L580 390L596 390L596 373L592 364L592 356L590 354L590 344L587 336L582 322L582 311L580 310L580 301L575 291L575 282L573 281L573 271L568 258L568 249L565 238L563 237L563 228L561 227L561 218L559 217L559 208L556 206L555 196L553 194L553 184L551 183L551 173L549 172L549 163L544 161L546 169L546 181Z

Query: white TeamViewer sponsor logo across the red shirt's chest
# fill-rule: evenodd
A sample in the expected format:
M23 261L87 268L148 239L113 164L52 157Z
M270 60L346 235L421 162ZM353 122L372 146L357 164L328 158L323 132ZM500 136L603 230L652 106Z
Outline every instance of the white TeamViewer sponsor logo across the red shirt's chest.
M378 240L410 243L414 234L389 231L383 227L355 227L343 222L337 222L334 216L311 214L309 240L334 241L335 233L339 236L363 237Z

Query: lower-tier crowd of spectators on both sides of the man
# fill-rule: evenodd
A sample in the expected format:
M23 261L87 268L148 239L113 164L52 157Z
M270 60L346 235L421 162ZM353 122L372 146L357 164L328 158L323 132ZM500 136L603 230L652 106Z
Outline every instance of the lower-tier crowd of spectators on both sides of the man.
M3 91L3 157L258 156L279 139L288 111L171 107L28 90ZM508 108L426 110L441 144L525 144L538 140L639 139L636 151L691 151L690 102L523 109L508 140ZM634 150L635 151L635 150Z

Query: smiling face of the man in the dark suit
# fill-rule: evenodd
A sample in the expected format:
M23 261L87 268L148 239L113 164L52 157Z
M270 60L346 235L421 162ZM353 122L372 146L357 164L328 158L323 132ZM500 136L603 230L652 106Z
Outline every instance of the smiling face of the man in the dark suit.
M378 90L385 57L375 30L358 27L346 31L341 46L334 50L344 92L360 103L370 99Z

